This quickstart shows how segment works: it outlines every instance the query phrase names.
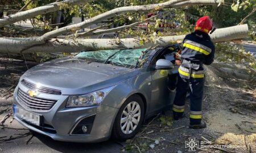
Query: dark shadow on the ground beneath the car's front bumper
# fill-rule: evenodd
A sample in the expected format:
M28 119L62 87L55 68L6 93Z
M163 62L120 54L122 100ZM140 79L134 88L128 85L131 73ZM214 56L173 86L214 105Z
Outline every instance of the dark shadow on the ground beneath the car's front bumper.
M124 146L124 143L113 140L99 143L75 143L55 141L39 133L33 133L33 135L44 145L60 152L121 152Z

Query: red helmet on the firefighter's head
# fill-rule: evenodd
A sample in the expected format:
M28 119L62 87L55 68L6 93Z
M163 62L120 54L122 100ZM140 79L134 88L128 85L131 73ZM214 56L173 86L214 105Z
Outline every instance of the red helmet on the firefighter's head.
M197 20L195 30L209 33L212 30L212 20L209 16L203 16Z

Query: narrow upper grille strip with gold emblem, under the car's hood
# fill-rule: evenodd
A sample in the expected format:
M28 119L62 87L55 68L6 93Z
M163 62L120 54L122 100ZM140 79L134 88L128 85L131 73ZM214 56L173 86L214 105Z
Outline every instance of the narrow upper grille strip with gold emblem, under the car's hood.
M36 87L36 84L28 82L27 80L24 80L24 79L21 81L21 83L24 86L30 88L31 90L36 90L36 91L43 92L46 94L61 95L60 90L55 90L55 89L47 88L47 87Z

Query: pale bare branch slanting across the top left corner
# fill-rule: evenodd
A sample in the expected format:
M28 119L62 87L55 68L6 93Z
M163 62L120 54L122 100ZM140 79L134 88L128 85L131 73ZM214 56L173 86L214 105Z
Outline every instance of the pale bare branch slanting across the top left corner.
M3 27L7 24L19 22L21 20L31 19L37 15L42 15L48 12L57 11L60 9L60 5L64 3L82 4L90 1L94 1L94 0L65 0L62 2L50 3L45 6L32 8L31 10L17 12L16 14L10 15L9 18L0 19L0 27Z

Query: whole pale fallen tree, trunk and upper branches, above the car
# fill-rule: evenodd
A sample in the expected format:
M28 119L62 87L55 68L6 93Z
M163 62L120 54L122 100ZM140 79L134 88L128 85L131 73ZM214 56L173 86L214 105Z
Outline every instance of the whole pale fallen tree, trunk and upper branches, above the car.
M51 3L46 6L33 8L31 10L17 12L14 15L10 15L10 18L0 19L0 27L6 24L14 23L19 20L32 18L33 16L44 14L47 12L56 11L61 8L63 3L81 3L90 2L90 0L66 0L63 2ZM151 39L141 40L130 38L130 39L77 39L76 37L65 37L67 33L75 33L79 29L86 28L92 24L100 23L103 20L113 18L120 14L135 13L135 12L146 12L151 10L162 10L163 8L173 7L184 7L192 5L218 5L221 1L216 0L172 0L163 3L141 5L141 6L124 6L114 8L106 11L102 14L96 15L92 18L84 20L84 22L68 25L63 28L57 28L53 31L44 33L42 36L36 37L2 37L0 38L0 53L33 53L33 52L80 52L81 50L101 50L101 49L127 49L127 48L147 48L148 46L160 45L164 46L171 42L182 40L185 35L180 36L155 36ZM120 31L131 25L123 25L119 28L106 29L105 32ZM247 24L237 25L234 27L220 28L217 29L212 35L213 42L229 41L233 39L241 39L247 36L248 27ZM96 32L97 33L97 32ZM102 31L98 33L103 33ZM93 31L89 33L93 34ZM95 33L94 33L95 34ZM86 35L85 35L86 36ZM147 35L145 35L147 37Z

